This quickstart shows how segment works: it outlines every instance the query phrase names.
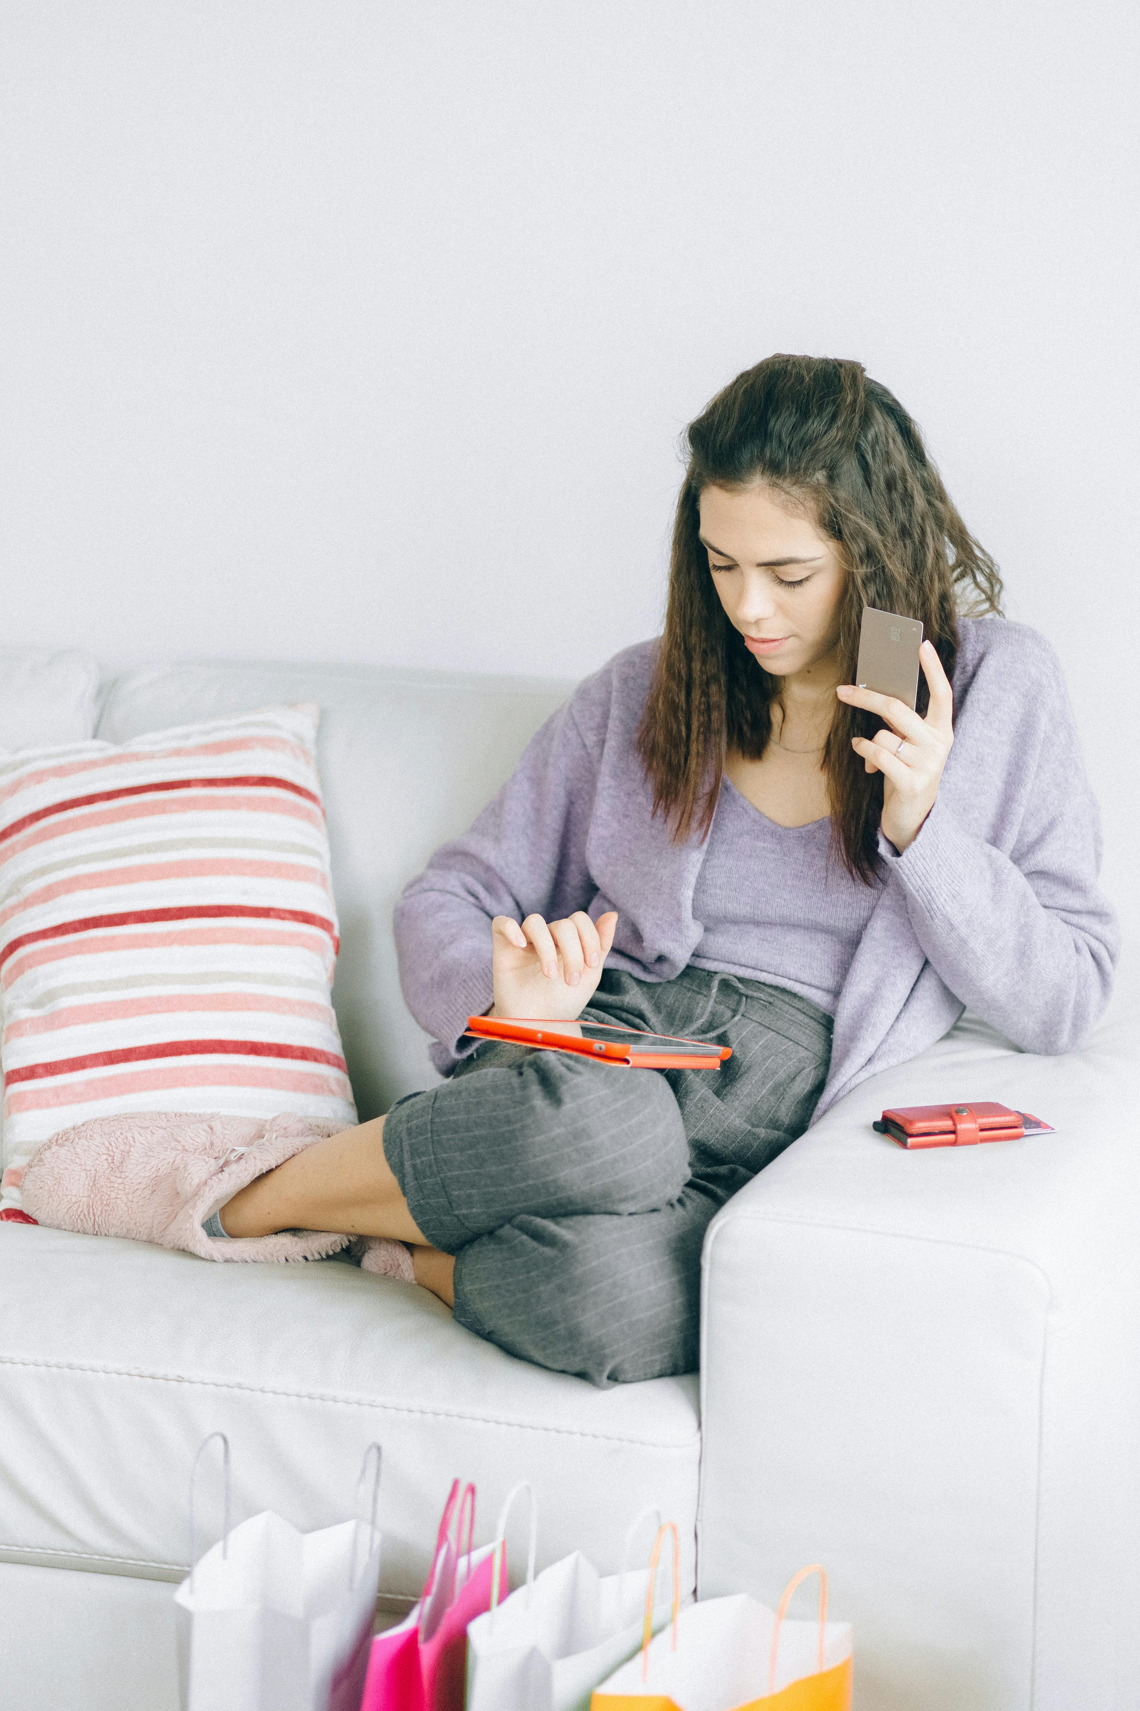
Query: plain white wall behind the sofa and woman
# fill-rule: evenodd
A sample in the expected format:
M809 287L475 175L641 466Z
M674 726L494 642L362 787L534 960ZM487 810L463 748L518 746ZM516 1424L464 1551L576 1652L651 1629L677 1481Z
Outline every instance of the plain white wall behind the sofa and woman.
M581 674L771 351L921 423L1125 900L1135 0L9 0L0 640Z

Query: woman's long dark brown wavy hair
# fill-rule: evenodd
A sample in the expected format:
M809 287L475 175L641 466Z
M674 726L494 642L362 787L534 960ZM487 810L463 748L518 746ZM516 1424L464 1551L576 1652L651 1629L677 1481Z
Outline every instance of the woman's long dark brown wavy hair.
M1002 616L1002 577L959 517L926 455L918 424L861 363L767 356L718 392L685 429L687 472L677 501L665 635L638 731L653 813L673 840L694 823L708 837L728 748L759 760L771 736L778 679L761 669L728 621L697 539L701 491L764 483L839 544L846 565L839 654L855 683L863 606L920 618L947 672L957 616ZM926 713L920 674L918 712ZM867 773L853 736L882 720L836 703L824 773L832 849L872 883L882 773ZM709 784L711 770L711 784Z

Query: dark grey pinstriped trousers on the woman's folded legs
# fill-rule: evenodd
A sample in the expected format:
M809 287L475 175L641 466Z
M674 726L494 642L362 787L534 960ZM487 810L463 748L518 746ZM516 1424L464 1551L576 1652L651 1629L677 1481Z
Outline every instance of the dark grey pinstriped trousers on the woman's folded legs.
M605 968L583 1020L732 1045L720 1069L607 1069L487 1040L388 1112L412 1217L456 1256L455 1317L593 1384L697 1367L701 1244L725 1201L807 1128L831 1016L689 965Z

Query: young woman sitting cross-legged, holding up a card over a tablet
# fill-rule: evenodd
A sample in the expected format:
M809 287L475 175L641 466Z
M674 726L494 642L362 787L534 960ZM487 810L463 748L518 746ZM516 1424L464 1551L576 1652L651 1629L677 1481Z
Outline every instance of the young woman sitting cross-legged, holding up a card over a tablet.
M1000 619L902 406L858 363L771 356L689 448L663 636L578 686L397 905L446 1080L212 1230L408 1242L461 1324L602 1386L697 1365L709 1220L836 1098L964 1004L1073 1049L1118 950L1056 657ZM853 686L863 606L923 621L916 712ZM473 1011L733 1056L614 1071L463 1037Z

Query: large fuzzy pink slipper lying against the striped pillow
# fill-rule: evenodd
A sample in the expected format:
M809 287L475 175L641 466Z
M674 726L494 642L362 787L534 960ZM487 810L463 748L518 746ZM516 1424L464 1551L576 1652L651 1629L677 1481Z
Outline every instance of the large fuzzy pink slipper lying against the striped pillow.
M125 1235L183 1247L202 1259L323 1259L347 1247L350 1237L282 1230L217 1239L202 1225L238 1189L340 1128L314 1117L200 1117L173 1110L92 1117L36 1148L24 1167L24 1211L55 1230Z

